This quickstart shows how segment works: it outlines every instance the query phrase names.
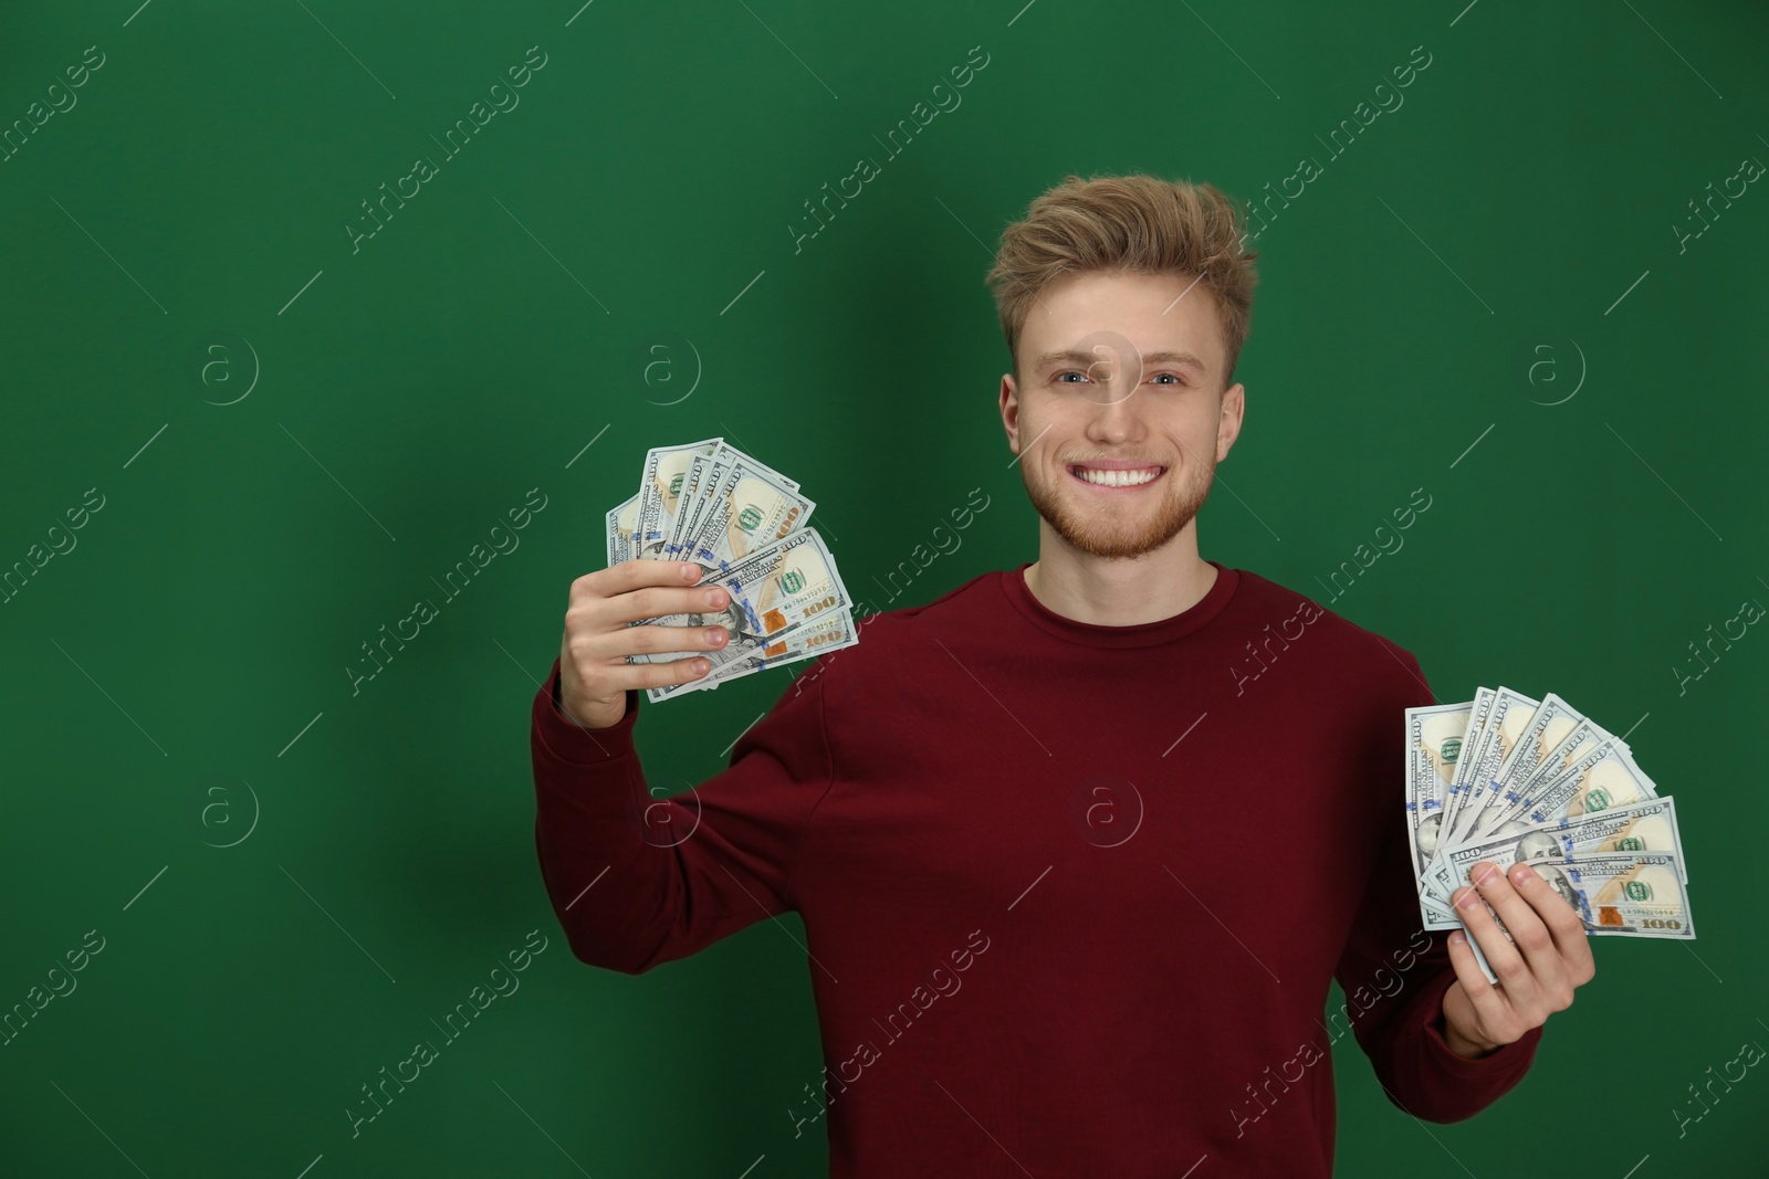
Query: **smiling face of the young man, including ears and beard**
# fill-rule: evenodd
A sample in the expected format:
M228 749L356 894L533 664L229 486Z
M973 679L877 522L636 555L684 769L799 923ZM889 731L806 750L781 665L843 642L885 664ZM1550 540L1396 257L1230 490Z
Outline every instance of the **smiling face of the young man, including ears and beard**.
M1206 288L1150 274L1060 279L1026 316L1015 359L1001 422L1033 507L1065 543L1139 557L1191 525L1245 405L1240 385L1222 391Z

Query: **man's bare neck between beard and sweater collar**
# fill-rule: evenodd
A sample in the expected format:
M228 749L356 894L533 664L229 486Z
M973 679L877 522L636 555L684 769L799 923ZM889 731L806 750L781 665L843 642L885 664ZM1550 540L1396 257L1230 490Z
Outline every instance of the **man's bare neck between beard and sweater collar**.
M1217 569L1198 555L1198 520L1141 557L1091 557L1038 521L1038 560L1026 589L1047 610L1093 626L1137 626L1183 613L1215 585Z

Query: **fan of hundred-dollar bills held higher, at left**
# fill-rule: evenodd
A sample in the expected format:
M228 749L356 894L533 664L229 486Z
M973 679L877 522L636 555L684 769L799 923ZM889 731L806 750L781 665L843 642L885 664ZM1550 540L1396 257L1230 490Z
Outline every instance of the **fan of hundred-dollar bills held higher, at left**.
M692 560L699 585L718 585L731 605L706 613L640 619L662 626L724 626L716 650L628 656L670 663L699 654L713 670L685 684L646 689L651 702L860 642L853 597L816 529L814 502L778 470L724 438L646 451L639 493L609 513L609 564L642 557Z

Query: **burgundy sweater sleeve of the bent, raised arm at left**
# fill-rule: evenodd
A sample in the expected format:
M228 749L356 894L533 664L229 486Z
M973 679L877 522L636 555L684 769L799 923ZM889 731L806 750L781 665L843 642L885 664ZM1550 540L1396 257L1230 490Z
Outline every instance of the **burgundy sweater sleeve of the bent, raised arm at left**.
M824 679L807 670L724 771L660 797L633 748L642 693L626 693L617 723L584 728L559 712L554 661L529 728L534 845L578 960L642 974L793 907L793 866L835 774Z

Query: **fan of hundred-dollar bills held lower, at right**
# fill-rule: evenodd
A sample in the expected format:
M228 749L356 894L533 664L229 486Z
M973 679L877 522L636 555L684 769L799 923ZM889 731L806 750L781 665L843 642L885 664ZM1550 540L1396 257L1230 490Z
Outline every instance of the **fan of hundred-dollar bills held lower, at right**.
M1488 861L1530 864L1589 933L1695 937L1675 804L1553 693L1406 709L1406 833L1428 930L1463 928L1449 898Z

